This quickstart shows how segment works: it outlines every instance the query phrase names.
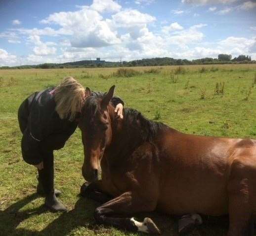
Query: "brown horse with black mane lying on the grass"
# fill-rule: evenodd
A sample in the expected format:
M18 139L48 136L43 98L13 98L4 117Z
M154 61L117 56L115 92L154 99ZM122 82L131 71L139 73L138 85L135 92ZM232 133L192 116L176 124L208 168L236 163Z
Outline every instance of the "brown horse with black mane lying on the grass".
M125 109L120 119L109 103L113 93L114 86L102 98L87 97L79 124L86 147L83 176L92 182L82 192L101 202L113 198L96 208L96 221L159 233L149 218L124 216L155 209L175 215L229 213L229 236L252 235L256 140L182 134L133 109Z

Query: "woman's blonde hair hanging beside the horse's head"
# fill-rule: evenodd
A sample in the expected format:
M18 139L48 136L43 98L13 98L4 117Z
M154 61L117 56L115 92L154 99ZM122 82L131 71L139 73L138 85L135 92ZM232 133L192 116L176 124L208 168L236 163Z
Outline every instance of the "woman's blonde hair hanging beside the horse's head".
M73 77L64 78L54 91L55 110L59 117L74 119L76 112L82 109L84 94L85 88Z

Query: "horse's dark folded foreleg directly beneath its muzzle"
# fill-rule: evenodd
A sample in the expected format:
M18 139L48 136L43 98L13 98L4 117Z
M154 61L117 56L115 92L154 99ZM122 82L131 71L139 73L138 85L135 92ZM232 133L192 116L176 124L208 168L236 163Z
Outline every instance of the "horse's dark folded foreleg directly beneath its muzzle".
M100 202L101 204L110 201L113 199L107 193L102 192L101 180L97 180L95 182L85 182L80 189L80 194L82 197L90 198L96 202Z

